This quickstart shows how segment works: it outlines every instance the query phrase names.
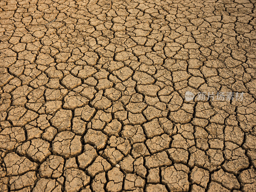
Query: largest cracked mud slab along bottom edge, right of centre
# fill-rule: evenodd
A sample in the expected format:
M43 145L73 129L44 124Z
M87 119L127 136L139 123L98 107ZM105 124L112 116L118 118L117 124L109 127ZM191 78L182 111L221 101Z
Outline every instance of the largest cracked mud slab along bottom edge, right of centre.
M188 172L189 169L183 164L174 164L171 167L161 168L162 182L167 184L171 191L188 191Z

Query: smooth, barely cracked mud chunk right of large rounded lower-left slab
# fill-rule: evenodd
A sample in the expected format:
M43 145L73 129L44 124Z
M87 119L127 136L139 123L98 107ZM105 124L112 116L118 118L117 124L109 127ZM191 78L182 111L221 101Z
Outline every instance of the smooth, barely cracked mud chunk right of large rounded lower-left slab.
M84 135L84 142L96 147L97 150L102 149L107 144L108 136L101 131L89 129Z

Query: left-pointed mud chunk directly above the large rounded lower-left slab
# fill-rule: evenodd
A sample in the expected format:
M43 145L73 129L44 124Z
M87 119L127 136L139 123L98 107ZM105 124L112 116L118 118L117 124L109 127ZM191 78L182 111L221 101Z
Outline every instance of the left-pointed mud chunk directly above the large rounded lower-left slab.
M50 122L53 126L57 127L58 131L66 131L71 129L72 111L60 109L52 117Z

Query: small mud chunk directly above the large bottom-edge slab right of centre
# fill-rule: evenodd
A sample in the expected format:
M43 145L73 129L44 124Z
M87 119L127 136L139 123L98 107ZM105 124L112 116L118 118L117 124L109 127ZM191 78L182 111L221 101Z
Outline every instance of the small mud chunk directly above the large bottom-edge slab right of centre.
M174 163L183 163L186 164L188 161L188 151L185 149L176 149L176 148L170 148L166 150L170 159Z

